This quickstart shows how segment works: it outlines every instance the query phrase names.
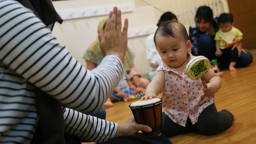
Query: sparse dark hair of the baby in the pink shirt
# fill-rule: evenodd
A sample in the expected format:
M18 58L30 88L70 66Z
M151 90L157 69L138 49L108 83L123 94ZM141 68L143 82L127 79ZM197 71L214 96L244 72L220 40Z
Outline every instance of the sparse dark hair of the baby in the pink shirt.
M154 35L154 42L156 45L156 35L160 34L162 36L172 36L176 38L176 34L180 32L184 38L185 41L189 40L188 32L183 24L180 24L179 22L172 22L172 21L166 21L162 23L157 29L156 33ZM175 34L176 33L176 34Z

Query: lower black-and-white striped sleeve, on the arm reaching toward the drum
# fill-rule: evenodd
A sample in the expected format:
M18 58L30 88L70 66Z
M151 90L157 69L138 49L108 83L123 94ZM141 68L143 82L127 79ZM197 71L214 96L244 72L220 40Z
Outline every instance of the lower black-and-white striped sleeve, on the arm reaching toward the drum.
M88 140L102 142L113 138L118 124L83 114L73 109L64 108L65 132Z

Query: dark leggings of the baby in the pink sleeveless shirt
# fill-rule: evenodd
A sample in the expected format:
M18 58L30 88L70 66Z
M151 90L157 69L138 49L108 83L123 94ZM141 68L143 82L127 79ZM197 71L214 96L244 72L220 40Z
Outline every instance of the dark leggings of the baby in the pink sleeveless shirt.
M228 110L217 112L215 104L208 106L198 118L198 122L192 125L187 120L186 127L174 123L164 112L162 114L161 132L164 136L171 137L185 132L198 132L203 135L213 135L226 130L234 120Z

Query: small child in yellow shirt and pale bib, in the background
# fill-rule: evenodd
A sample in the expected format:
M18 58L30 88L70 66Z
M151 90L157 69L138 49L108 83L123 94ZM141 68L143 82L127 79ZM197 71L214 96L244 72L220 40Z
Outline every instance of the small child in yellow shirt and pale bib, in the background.
M216 52L220 65L227 64L226 58L230 58L229 70L235 71L236 62L241 54L243 34L234 27L234 18L230 13L222 13L218 18L220 30L216 32Z

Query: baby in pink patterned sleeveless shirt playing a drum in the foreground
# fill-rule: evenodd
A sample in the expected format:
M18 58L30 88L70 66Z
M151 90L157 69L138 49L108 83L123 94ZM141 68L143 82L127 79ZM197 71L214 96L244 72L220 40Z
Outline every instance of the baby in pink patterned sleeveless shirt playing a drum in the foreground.
M162 134L212 135L226 130L234 117L228 110L217 112L214 104L214 94L221 87L218 74L210 69L204 76L204 88L201 80L192 80L185 73L186 65L194 58L186 28L178 22L165 22L156 30L154 42L163 62L141 100L156 98L162 90Z

